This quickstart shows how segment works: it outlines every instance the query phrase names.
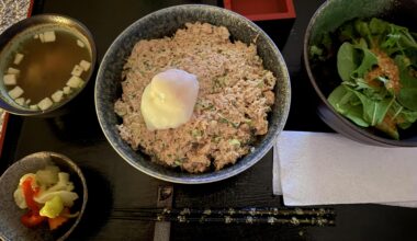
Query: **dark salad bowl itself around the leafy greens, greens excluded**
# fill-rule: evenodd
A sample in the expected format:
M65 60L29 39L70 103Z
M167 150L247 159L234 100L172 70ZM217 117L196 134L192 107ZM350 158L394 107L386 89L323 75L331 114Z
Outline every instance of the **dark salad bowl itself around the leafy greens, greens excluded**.
M327 102L327 96L341 82L337 74L336 61L326 66L325 73L318 74L312 69L308 49L319 42L323 34L334 32L342 23L361 18L381 18L394 24L408 27L416 32L417 25L416 0L328 0L313 15L304 38L304 62L309 80L322 100L318 115L336 131L362 144L385 147L417 146L417 124L402 131L401 140L385 137L371 128L361 128L338 114Z

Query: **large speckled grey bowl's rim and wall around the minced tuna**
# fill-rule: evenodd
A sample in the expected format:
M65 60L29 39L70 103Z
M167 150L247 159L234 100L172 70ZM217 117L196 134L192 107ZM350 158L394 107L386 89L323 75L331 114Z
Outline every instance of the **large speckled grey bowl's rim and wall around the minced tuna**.
M189 174L179 170L167 169L150 161L150 158L140 151L134 151L123 141L116 129L121 124L114 113L114 102L121 96L121 76L125 59L129 56L133 46L140 39L171 36L178 28L184 27L187 22L207 22L214 25L226 26L232 39L239 39L247 44L257 37L258 55L263 65L278 78L275 85L275 103L269 115L269 130L256 144L256 150L241 158L235 165L221 171ZM127 27L106 51L98 72L95 82L95 108L100 125L110 144L129 164L136 169L161 180L176 183L210 183L233 176L248 169L259 161L272 147L274 138L283 129L290 107L290 78L284 60L273 44L252 22L237 13L210 5L177 5L154 12Z

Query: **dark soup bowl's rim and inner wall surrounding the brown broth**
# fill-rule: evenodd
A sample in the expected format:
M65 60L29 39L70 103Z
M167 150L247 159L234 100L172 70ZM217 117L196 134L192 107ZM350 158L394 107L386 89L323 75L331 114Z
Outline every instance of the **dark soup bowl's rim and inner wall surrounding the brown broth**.
M37 34L41 30L49 30L54 28L56 31L66 31L67 33L74 34L79 39L81 39L84 43L84 46L89 54L91 55L91 66L88 70L87 74L83 76L84 84L75 90L71 94L66 96L63 101L58 103L54 103L54 105L45 111L42 110L31 110L29 106L22 106L19 105L13 101L12 97L9 96L8 90L3 82L3 76L5 74L5 70L8 67L5 66L8 60L10 60L11 57L11 48L12 45L19 45L22 39L25 39L27 35L30 34ZM58 41L58 39L57 39ZM75 43L77 44L77 43ZM97 60L97 50L95 50L95 44L92 38L91 33L89 30L79 21L64 16L64 15L57 15L57 14L40 14L35 16L31 16L29 19L22 20L9 28L7 28L1 35L0 35L0 107L16 114L16 115L24 115L24 116L45 116L49 115L52 113L56 113L58 108L60 108L63 105L70 102L72 99L75 99L82 89L88 84L89 80L91 79L91 74L93 72L93 68L95 66ZM71 72L68 73L68 79L70 78ZM19 77L18 77L18 84L19 84ZM45 87L47 85L47 81L45 81ZM46 96L45 96L46 97ZM50 97L50 96L49 96ZM36 104L36 103L31 103Z

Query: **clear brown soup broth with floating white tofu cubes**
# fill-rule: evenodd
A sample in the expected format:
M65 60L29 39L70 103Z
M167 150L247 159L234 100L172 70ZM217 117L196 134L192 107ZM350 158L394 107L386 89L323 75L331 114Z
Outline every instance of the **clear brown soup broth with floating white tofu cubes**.
M20 105L42 111L68 99L90 76L91 51L87 46L69 30L42 30L23 36L11 48L2 70L9 95Z

